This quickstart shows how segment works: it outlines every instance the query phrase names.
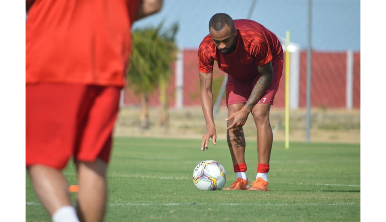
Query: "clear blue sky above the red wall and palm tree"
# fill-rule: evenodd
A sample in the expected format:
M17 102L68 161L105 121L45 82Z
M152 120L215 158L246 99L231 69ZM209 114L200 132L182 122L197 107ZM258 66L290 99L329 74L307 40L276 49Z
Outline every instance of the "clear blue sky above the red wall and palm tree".
M251 19L276 35L291 32L291 42L307 47L308 0L257 0ZM361 49L360 0L312 0L312 47L316 50ZM177 44L197 48L208 34L208 22L215 13L234 19L247 18L252 0L164 0L161 12L134 23L133 28L156 26L165 20L169 27L179 23Z

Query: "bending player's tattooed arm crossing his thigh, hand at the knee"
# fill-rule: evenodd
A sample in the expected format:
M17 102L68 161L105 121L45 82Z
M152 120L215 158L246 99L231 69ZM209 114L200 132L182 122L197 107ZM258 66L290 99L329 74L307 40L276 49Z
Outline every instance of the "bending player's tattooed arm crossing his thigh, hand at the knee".
M232 123L227 129L241 127L247 121L248 114L252 111L252 108L256 105L257 102L266 92L269 85L271 85L273 79L273 68L272 63L269 62L265 65L258 66L257 69L261 74L259 80L257 80L256 85L253 87L251 95L249 96L247 102L241 110L230 115L225 120L232 120Z

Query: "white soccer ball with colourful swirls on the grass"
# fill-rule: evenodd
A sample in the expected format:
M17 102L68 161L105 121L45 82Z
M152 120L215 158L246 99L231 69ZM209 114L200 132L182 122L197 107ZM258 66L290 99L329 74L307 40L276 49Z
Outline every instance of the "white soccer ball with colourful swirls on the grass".
M205 160L193 170L193 183L199 190L221 190L226 180L224 167L214 160Z

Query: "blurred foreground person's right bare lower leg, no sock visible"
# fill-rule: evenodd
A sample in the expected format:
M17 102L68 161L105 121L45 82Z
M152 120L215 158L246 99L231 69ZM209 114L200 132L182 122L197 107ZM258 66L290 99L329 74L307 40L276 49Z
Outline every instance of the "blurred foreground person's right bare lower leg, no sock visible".
M97 159L95 162L77 162L78 204L76 211L81 221L103 221L107 201L107 164Z

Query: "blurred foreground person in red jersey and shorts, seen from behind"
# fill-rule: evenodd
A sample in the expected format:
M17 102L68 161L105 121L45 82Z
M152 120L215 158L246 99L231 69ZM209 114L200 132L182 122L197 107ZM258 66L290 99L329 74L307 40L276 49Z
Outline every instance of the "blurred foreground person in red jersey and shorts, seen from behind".
M162 0L26 1L25 165L54 222L102 221L132 23ZM73 157L76 210L62 174Z

